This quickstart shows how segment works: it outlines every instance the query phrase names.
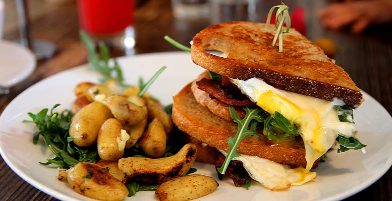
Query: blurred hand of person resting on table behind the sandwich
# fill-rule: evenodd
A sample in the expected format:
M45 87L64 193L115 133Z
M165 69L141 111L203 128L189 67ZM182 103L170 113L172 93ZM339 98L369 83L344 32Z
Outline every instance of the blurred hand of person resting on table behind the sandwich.
M371 24L392 22L391 11L392 0L347 1L324 8L319 18L327 28L351 26L353 33L360 33Z

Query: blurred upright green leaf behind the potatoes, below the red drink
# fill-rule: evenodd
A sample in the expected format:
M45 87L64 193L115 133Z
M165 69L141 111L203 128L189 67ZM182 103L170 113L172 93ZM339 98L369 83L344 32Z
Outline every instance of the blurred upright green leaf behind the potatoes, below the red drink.
M103 42L99 42L98 47L100 49L100 55L95 50L94 42L88 37L88 35L84 31L80 31L80 38L83 44L86 46L88 51L88 61L90 62L90 68L95 70L103 75L100 79L102 83L106 82L108 79L117 80L120 85L127 86L124 83L123 72L121 70L120 65L118 64L116 59L113 59L113 66L109 63L109 50L108 47ZM100 60L100 56L102 61Z

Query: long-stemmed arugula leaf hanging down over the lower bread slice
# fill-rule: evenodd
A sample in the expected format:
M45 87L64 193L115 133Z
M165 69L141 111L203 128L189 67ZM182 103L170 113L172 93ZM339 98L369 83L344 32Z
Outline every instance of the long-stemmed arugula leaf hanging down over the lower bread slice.
M234 122L238 123L238 129L237 129L237 133L236 135L233 137L229 137L229 139L227 139L227 142L229 143L229 151L227 153L226 159L223 162L222 166L220 168L217 168L217 170L221 173L221 174L225 174L227 167L229 166L230 161L235 158L235 157L239 157L241 156L241 154L237 153L237 148L238 145L240 144L241 140L245 137L245 136L253 136L254 134L256 134L256 126L257 126L257 122L263 122L264 119L262 117L260 117L259 113L263 112L261 109L259 108L248 108L245 107L243 108L246 112L246 115L244 117L244 119L241 119L237 112L235 111L233 106L230 106L230 114L231 117L233 118ZM250 125L250 128L249 128Z

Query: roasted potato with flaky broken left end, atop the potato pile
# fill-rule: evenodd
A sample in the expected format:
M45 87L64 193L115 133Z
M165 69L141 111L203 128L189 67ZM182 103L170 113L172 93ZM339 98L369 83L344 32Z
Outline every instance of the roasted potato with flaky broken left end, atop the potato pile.
M113 116L124 126L132 126L147 118L147 111L143 107L131 103L122 95L111 95L104 99L105 104Z

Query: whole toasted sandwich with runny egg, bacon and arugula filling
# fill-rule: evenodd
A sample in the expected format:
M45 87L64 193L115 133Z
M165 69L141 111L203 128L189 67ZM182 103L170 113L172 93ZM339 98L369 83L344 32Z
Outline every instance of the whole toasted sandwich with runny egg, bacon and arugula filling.
M241 166L279 190L314 180L311 169L331 147L365 146L352 114L363 97L320 47L290 30L280 52L271 45L276 29L265 27L227 22L195 35L191 59L206 72L173 97L172 118L200 145L199 160L222 174Z

